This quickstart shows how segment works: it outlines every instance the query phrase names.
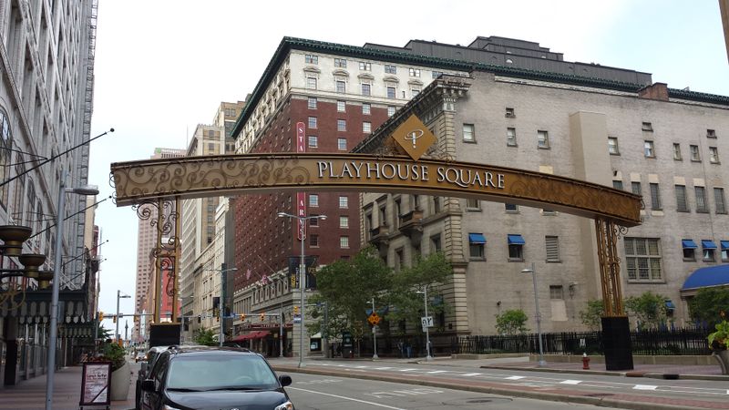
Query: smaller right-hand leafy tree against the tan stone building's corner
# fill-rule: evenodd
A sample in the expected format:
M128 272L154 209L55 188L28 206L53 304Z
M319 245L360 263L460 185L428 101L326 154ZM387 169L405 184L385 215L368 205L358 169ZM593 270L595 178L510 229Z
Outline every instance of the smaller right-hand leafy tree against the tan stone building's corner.
M391 307L385 319L395 323L420 323L420 318L425 314L426 302L429 315L447 312L448 306L443 302L443 297L431 286L446 283L452 273L453 267L443 252L416 258L413 266L395 273L392 289L385 299ZM423 294L418 291L422 291L426 285L428 300L424 302ZM421 329L420 326L416 328Z

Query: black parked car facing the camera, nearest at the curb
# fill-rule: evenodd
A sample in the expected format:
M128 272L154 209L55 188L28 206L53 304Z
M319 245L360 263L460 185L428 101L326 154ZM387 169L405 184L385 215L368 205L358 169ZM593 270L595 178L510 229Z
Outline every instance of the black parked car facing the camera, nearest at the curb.
M141 384L143 409L293 410L283 387L260 354L236 348L169 348Z

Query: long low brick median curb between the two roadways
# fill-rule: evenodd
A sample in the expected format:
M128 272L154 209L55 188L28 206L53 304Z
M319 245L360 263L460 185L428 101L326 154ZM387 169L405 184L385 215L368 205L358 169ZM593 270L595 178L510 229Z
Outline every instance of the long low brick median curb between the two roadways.
M553 393L544 393L538 391L524 391L517 389L507 389L503 387L493 386L478 386L478 385L466 385L457 384L452 382L436 382L432 380L420 380L420 379L404 379L397 378L394 376L383 376L382 374L371 375L371 374L351 374L346 372L334 372L329 369L311 369L311 368L299 368L290 366L275 366L272 365L276 372L287 372L287 373L303 373L303 374L320 374L320 375L331 375L337 377L347 377L353 379L364 379L374 380L379 382L392 382L400 384L416 384L426 385L429 387L440 387L453 390L463 390L467 392L485 393L489 395L506 395L510 397L526 397L536 400L545 400L550 402L560 403L574 403L579 405L596 405L601 407L616 407L625 408L630 410L679 410L685 409L683 405L666 405L661 403L651 402L636 402L636 401L624 401L618 400L611 397L594 397L589 395L557 395ZM712 403L712 402L707 402ZM711 407L703 407L711 408Z

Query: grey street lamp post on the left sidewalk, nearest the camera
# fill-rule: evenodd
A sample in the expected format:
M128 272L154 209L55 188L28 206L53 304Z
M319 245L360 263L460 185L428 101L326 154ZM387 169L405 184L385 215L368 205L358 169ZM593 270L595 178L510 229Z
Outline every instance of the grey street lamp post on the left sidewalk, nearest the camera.
M66 213L66 194L97 195L96 187L66 188L66 170L58 182L58 206L56 210L56 249L54 250L53 286L51 290L51 317L48 323L48 362L46 364L46 410L53 409L53 381L56 375L56 343L58 337L58 292L61 282L61 257L63 252L63 221Z

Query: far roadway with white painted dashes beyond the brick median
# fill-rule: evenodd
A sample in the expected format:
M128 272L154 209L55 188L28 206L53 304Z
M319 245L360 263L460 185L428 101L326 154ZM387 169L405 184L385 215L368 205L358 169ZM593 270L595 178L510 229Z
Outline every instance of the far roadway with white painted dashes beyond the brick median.
M410 364L397 361L272 361L282 372L356 377L369 380L455 388L481 393L533 397L621 408L725 408L729 384L720 380L662 380L601 374L560 374L473 366ZM301 374L301 373L299 373Z

